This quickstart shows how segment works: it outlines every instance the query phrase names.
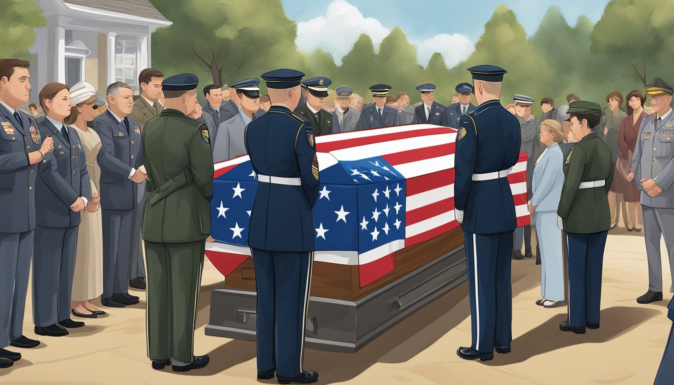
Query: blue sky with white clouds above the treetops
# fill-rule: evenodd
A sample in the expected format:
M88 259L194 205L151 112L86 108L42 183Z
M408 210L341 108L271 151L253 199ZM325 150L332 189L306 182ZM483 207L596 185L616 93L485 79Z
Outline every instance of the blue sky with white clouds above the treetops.
M541 24L551 5L558 5L569 24L581 15L592 22L601 18L609 0L281 0L286 15L298 22L297 46L302 51L323 49L341 62L362 33L378 49L381 39L400 26L417 45L419 63L426 65L433 52L442 53L448 67L470 55L499 3L512 9L527 34Z

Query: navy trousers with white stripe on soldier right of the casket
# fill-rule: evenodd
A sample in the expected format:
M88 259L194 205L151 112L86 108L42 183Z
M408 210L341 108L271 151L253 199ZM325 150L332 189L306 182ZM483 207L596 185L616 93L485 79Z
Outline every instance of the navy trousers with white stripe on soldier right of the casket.
M474 234L464 231L473 349L488 353L512 342L510 251L512 231ZM480 301L480 299L487 299Z

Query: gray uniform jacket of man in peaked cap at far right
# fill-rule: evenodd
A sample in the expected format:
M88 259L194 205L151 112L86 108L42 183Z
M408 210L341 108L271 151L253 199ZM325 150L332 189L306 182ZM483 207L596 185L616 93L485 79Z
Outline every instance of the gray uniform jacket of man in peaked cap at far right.
M634 184L641 191L641 204L653 208L674 208L674 112L656 127L655 116L644 117L632 155ZM641 178L652 178L663 192L650 198Z

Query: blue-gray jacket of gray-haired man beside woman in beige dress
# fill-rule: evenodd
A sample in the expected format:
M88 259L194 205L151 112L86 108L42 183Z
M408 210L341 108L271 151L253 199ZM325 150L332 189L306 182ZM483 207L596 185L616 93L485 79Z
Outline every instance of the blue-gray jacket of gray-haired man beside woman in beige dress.
M137 129L137 131L136 131ZM131 169L143 165L140 125L129 118L129 131L118 123L110 111L94 119L94 131L100 136L100 208L103 210L133 210L136 203L136 183L129 179Z

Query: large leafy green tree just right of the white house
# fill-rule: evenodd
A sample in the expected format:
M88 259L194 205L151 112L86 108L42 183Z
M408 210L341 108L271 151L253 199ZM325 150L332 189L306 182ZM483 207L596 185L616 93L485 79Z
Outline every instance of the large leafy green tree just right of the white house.
M297 24L279 0L151 1L173 22L152 35L152 61L166 73L210 73L222 86L274 68L303 67Z

